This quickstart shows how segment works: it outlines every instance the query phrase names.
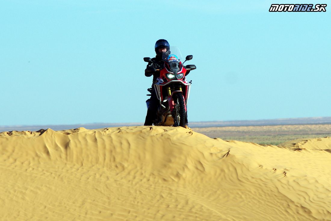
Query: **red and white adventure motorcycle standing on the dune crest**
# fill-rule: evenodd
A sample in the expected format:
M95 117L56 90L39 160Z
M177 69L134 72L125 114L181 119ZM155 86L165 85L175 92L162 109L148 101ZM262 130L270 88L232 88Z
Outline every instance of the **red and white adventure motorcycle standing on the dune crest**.
M170 47L170 51L173 52L174 49ZM178 54L181 56L179 51ZM196 66L184 66L186 61L193 58L192 55L186 56L183 63L178 57L175 54L170 54L167 57L163 56L164 65L155 69L160 71L160 77L154 83L156 96L160 102L157 119L153 121L156 126L185 127L185 122L187 122L187 101L192 81L188 82L185 74L187 71L196 69ZM146 57L144 61L158 66L151 58ZM152 93L152 88L147 90ZM151 96L151 94L147 94L147 96ZM147 99L146 105L148 109L150 99Z

